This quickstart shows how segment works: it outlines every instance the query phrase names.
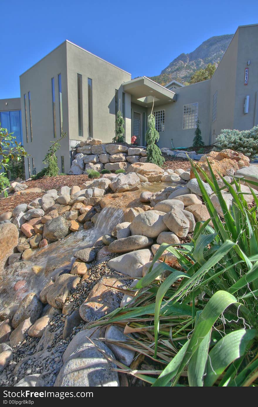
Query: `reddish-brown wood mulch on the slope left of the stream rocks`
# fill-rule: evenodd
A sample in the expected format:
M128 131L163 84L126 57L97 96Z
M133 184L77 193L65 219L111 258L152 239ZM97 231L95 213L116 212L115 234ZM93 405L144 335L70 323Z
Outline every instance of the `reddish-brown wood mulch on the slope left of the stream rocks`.
M88 181L88 175L59 175L58 177L43 177L41 179L32 179L31 181L26 181L28 188L40 188L41 193L25 193L9 195L8 198L0 199L0 214L4 212L11 212L15 206L20 204L29 204L38 197L42 197L44 193L49 189L56 189L57 191L64 185L73 186L82 184Z

